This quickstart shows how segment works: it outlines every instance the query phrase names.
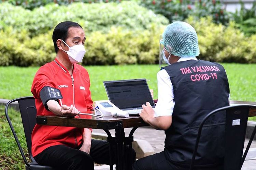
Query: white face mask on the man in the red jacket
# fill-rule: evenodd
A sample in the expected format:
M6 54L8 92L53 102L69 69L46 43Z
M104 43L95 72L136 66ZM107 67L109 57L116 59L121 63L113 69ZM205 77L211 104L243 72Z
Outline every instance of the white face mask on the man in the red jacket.
M61 39L61 41L63 43L65 43L62 39ZM63 51L65 51L65 50L63 50ZM74 64L74 63L82 62L86 50L84 49L84 46L82 44L80 44L80 45L75 45L75 46L69 47L69 50L65 51L65 52L68 54L70 62Z

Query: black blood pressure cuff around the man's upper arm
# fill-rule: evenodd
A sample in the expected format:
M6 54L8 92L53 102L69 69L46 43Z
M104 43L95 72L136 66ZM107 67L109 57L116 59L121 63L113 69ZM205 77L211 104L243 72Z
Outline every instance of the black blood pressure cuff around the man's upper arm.
M53 87L49 87L49 86L43 87L39 94L40 94L40 98L43 102L43 105L47 111L49 111L49 109L48 109L48 106L46 103L49 100L55 100L59 103L58 99L62 99L60 90L53 88Z

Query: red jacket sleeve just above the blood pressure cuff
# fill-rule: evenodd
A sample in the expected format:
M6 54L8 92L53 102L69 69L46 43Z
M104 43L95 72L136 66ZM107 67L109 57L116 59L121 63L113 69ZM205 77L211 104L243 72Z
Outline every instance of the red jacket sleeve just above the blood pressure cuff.
M56 88L55 83L50 79L49 71L44 71L44 69L41 67L35 74L31 86L31 92L35 99L40 99L39 93L45 86Z

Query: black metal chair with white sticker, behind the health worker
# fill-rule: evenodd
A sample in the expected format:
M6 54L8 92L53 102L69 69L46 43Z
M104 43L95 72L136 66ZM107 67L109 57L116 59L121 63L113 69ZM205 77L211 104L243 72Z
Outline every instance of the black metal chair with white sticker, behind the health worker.
M248 150L251 146L253 138L256 133L256 126L253 130L253 133L250 137L248 145L243 154L245 133L248 121L248 114L250 108L256 108L255 105L235 105L235 106L226 106L222 108L215 109L210 112L202 120L196 139L195 149L192 156L190 170L194 167L195 157L197 154L197 149L199 145L200 135L202 128L204 127L205 121L209 117L221 111L226 111L226 123L225 123L225 155L224 155L224 170L240 170L243 166L245 157L248 153Z

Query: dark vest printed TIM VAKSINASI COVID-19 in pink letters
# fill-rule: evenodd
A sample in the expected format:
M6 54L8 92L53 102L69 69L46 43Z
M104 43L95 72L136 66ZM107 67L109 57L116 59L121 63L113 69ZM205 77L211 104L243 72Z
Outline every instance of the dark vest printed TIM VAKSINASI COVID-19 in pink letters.
M170 76L174 92L172 124L165 131L165 151L171 162L189 166L198 127L214 109L228 106L229 84L226 71L218 63L188 60L163 67ZM225 123L225 113L206 124ZM223 162L225 125L203 128L195 166L214 166Z

